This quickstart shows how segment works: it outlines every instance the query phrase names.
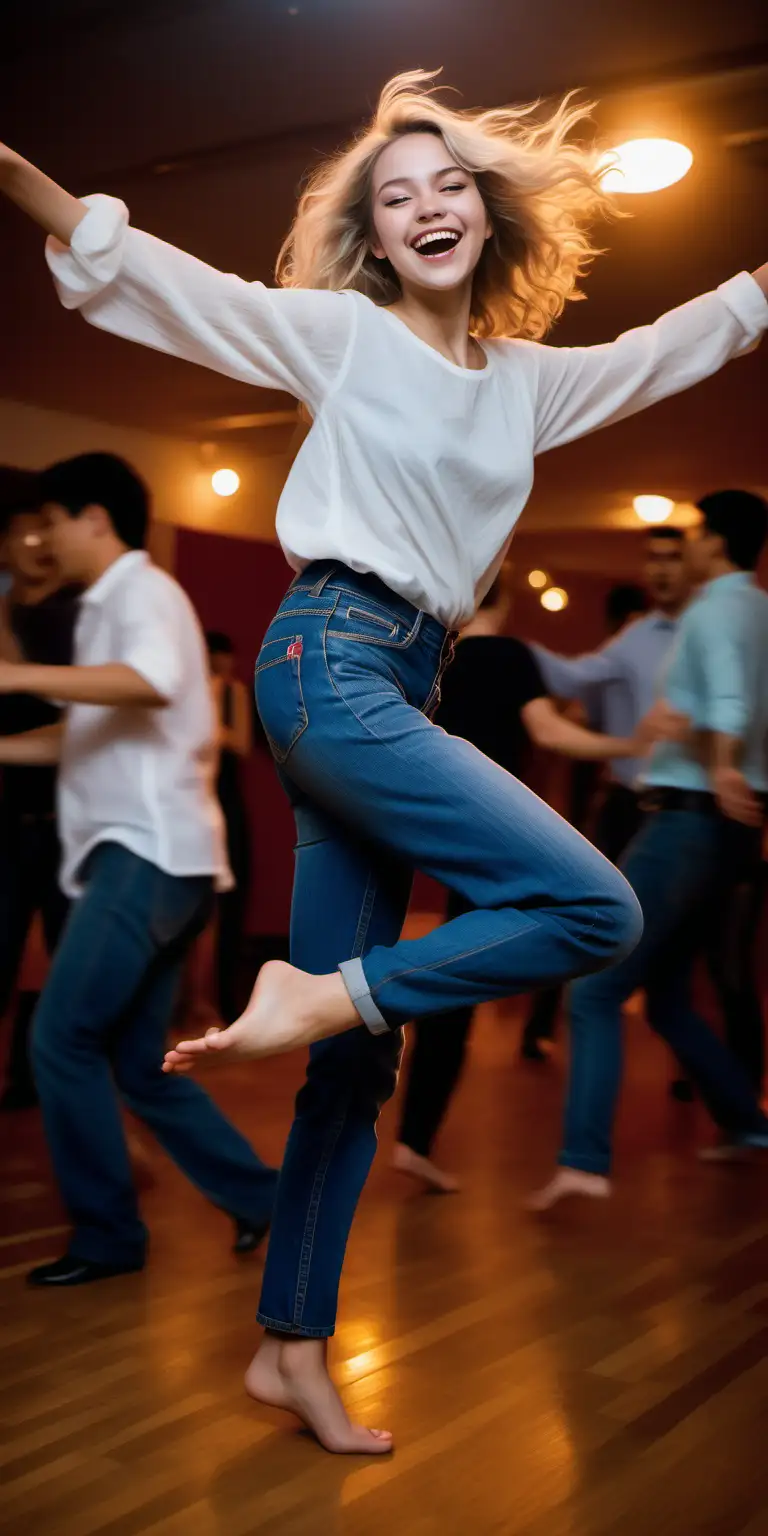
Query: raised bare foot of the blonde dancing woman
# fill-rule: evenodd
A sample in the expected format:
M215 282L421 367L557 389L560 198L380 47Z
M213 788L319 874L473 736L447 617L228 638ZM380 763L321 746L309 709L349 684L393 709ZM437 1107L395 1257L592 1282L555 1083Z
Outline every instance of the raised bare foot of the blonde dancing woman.
M359 1014L338 971L307 975L284 960L258 972L246 1012L229 1029L206 1029L166 1051L163 1072L189 1072L200 1057L226 1052L233 1060L276 1055L339 1035L359 1025Z

